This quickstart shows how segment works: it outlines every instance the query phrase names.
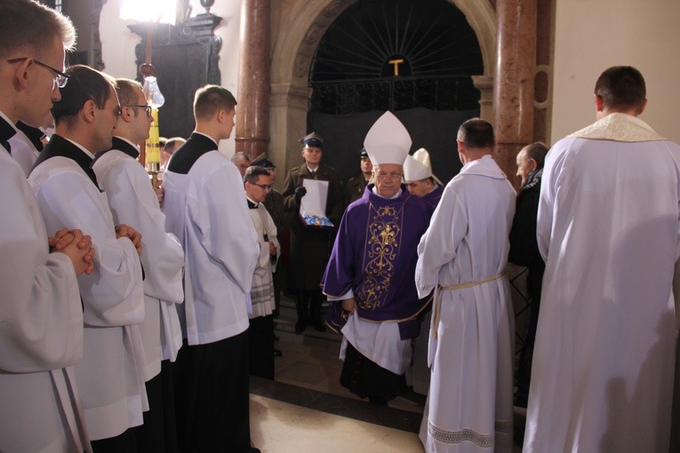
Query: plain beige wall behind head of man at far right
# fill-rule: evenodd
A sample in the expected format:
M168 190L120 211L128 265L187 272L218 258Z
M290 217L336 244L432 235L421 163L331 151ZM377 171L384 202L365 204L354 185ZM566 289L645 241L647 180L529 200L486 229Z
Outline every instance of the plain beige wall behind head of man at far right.
M647 83L641 118L680 142L680 2L557 0L551 143L595 121L597 76L615 65L638 68Z

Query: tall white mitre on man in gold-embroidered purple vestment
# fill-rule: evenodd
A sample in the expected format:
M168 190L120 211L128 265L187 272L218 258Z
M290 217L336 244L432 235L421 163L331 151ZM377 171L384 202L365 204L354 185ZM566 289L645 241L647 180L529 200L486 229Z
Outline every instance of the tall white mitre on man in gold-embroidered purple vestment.
M396 116L385 112L366 134L364 147L373 165L396 163L403 165L411 149L411 135Z

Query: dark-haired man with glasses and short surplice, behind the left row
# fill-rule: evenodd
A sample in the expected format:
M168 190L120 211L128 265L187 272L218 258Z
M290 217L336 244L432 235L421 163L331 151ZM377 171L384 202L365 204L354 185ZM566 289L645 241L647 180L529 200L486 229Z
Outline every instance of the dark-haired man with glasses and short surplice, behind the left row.
M248 328L248 353L252 376L274 379L274 277L272 271L281 254L274 220L264 201L271 191L269 171L264 167L248 167L244 176L245 198L258 234L260 259L252 275L252 313Z

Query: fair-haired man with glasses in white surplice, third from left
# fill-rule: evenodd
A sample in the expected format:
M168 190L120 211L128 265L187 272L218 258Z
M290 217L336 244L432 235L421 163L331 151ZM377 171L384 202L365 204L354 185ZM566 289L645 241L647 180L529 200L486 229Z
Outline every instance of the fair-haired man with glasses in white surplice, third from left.
M136 427L140 451L173 451L176 448L173 413L172 369L182 344L180 319L175 304L184 300L181 273L184 252L173 234L165 233L165 216L144 167L137 162L140 142L148 139L151 107L140 83L116 79L121 115L114 127L113 147L97 156L92 170L107 195L117 224L134 225L141 234L144 269L144 322L140 324L144 346L143 373L148 395L144 424ZM165 423L169 420L172 423Z

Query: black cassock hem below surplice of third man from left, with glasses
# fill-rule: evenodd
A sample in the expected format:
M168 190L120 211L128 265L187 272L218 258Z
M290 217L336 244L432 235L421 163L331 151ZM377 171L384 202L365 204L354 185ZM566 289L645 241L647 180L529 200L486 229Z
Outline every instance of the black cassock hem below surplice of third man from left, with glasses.
M144 425L132 428L140 451L176 453L175 396L170 361L161 362L161 372L147 381L148 410Z

